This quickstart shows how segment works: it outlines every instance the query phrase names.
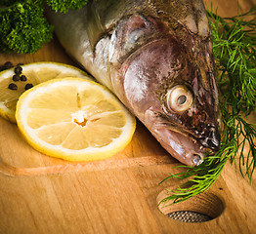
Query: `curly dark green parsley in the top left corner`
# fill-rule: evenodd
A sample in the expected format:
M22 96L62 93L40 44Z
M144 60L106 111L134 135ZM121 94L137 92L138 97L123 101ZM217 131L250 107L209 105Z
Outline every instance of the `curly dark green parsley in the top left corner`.
M55 11L78 9L87 0L46 0ZM30 54L53 37L53 26L44 18L44 0L0 0L0 51Z

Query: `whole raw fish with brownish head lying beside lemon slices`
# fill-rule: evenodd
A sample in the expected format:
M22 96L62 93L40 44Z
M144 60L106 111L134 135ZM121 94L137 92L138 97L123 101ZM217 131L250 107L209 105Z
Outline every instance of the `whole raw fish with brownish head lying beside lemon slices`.
M66 52L107 86L176 159L220 146L211 30L201 0L89 0L47 10Z

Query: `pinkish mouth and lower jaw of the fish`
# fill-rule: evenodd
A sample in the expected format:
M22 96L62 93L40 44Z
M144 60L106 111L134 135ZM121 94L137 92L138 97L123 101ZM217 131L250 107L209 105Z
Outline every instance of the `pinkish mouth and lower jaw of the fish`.
M207 153L213 153L192 137L167 128L156 129L152 134L174 158L191 167L201 164Z

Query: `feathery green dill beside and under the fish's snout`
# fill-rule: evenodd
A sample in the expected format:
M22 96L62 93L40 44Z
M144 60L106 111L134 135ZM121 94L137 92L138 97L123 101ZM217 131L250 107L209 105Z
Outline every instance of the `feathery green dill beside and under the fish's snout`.
M182 202L206 191L229 160L236 163L237 159L241 175L252 178L256 168L256 125L246 121L246 116L256 109L255 15L256 6L233 18L221 18L217 11L208 11L221 96L222 143L220 150L208 155L199 166L178 166L187 171L163 180L174 177L187 180L176 190L168 190L169 196L161 201L163 203Z

